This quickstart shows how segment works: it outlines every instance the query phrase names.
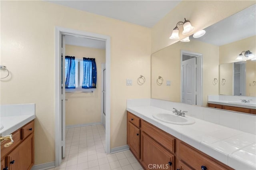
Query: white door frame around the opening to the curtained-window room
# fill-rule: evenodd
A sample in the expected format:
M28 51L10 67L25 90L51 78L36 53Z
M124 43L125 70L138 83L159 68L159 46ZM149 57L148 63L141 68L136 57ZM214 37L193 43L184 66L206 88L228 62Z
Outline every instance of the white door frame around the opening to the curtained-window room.
M106 42L106 153L110 153L110 36L55 27L55 166L62 161L61 155L61 35L82 36Z

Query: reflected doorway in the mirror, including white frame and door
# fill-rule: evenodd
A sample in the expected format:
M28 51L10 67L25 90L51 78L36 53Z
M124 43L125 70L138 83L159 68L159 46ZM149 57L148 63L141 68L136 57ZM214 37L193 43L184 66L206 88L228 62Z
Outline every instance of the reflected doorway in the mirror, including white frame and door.
M182 103L202 105L202 54L181 51L181 92Z

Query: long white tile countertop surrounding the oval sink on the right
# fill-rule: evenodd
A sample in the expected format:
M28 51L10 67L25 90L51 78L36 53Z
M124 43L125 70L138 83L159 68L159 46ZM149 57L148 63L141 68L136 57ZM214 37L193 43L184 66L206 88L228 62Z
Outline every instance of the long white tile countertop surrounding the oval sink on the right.
M151 99L152 100L152 99ZM130 102L132 103L132 102ZM142 102L143 103L143 102ZM174 114L144 102L127 105L127 111L237 170L256 169L256 135L201 119L192 125L173 125L154 119L156 113ZM171 103L171 102L170 102ZM177 108L179 109L179 108ZM189 110L188 110L189 111ZM186 117L189 117L186 115ZM254 127L252 127L254 128Z

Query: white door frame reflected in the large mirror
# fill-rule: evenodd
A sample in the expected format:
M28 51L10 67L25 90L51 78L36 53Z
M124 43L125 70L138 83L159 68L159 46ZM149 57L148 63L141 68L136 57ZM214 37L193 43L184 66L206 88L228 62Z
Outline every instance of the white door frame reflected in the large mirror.
M203 91L203 81L202 81L202 67L203 67L203 62L202 62L202 58L203 55L200 53L194 53L191 51L185 51L185 50L181 50L180 53L180 77L182 77L182 55L186 54L186 55L193 55L196 57L196 105L198 106L202 106L202 101L203 101L203 95L202 95L202 91ZM180 79L180 102L182 103L182 79Z

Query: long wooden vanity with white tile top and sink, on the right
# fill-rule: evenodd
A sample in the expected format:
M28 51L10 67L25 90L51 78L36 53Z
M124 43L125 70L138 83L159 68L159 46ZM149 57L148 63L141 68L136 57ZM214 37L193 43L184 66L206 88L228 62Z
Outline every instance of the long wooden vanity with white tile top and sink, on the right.
M174 115L173 107L186 109L185 117L195 123L175 125L154 118ZM126 110L127 144L144 169L256 169L255 115L157 99L127 100Z

